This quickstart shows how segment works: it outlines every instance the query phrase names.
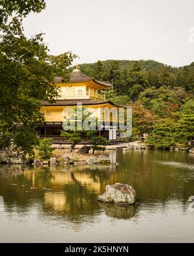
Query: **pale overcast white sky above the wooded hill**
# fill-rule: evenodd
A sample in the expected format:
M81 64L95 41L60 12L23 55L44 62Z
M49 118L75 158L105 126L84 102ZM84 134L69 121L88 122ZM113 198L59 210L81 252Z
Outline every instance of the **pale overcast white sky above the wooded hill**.
M28 36L45 33L51 54L78 54L74 64L194 61L193 0L47 0L47 8L23 25Z

